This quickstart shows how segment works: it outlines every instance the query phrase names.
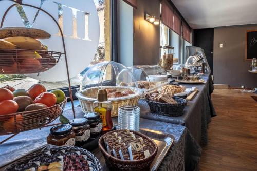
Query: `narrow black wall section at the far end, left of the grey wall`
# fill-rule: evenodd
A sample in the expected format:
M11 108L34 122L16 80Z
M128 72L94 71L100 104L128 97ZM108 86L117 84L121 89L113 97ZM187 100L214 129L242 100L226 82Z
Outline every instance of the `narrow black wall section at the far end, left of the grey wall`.
M205 51L207 61L213 74L213 28L195 29L194 46L201 47Z

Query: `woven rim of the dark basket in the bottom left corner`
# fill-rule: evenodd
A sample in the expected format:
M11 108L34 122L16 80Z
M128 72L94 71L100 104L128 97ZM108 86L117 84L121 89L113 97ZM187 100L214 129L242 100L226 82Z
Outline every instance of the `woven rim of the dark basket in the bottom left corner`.
M87 160L91 162L91 167L93 167L94 171L102 171L102 166L99 162L99 160L93 155L91 154L89 151L87 151L86 149L83 148L79 148L79 147L68 147L68 146L64 146L64 147L58 147L58 148L51 148L49 150L42 150L40 153L32 153L26 157L23 157L20 160L15 161L14 163L12 163L9 167L7 167L5 170L7 171L11 171L14 170L14 167L16 165L20 165L20 164L26 164L29 162L29 160L38 157L40 155L42 155L43 153L45 153L46 151L50 151L51 153L57 153L60 150L65 150L65 151L80 151L81 155L86 155L87 156Z

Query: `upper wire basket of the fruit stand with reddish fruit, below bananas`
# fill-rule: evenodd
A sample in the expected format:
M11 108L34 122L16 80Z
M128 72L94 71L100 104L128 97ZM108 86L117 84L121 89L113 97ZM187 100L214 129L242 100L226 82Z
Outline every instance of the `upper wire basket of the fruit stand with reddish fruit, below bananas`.
M44 72L54 67L62 54L48 50L0 49L0 74Z

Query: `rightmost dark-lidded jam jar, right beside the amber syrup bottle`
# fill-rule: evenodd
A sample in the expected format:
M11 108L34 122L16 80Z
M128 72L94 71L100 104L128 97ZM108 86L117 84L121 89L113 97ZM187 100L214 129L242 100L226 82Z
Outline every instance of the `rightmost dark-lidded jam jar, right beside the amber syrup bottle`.
M87 122L90 124L91 138L96 138L102 133L103 122L99 113L89 112L84 115Z

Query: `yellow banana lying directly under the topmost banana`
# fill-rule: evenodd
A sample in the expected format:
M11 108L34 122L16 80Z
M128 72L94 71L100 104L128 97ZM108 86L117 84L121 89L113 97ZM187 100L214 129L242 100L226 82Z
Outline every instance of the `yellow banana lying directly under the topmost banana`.
M40 41L30 37L8 37L3 40L19 46L21 49L40 50L42 48Z

